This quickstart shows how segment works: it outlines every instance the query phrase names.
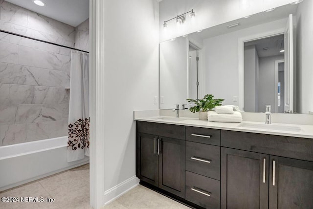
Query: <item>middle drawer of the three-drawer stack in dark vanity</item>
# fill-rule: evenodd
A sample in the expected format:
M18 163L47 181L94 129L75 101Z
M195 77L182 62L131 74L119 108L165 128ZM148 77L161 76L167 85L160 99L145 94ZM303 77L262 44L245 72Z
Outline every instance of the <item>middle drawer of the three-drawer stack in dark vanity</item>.
M186 170L220 180L220 147L186 141Z

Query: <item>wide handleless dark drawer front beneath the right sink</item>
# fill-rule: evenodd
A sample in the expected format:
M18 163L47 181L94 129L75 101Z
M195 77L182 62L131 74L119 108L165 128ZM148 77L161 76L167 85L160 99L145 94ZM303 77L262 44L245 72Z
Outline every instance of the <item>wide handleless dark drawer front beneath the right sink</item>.
M224 147L313 161L313 139L222 130Z

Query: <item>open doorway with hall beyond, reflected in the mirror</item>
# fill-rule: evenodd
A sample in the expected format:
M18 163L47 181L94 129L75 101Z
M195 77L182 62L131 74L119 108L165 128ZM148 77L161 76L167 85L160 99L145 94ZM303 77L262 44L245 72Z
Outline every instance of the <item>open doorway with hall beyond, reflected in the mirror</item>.
M246 112L284 113L284 34L245 42L244 104Z

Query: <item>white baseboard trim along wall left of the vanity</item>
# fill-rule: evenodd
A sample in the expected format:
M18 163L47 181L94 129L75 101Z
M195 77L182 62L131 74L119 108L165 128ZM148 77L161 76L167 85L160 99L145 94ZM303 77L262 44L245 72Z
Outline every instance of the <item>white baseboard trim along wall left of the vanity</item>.
M126 181L106 190L104 192L105 205L111 203L113 200L117 199L137 185L139 185L139 179L136 176L133 176Z

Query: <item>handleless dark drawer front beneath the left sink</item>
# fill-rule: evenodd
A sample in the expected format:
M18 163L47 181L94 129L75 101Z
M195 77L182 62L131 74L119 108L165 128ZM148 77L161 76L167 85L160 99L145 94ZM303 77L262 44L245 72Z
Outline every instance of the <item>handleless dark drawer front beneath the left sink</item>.
M185 139L185 126L137 121L137 132L173 139Z

